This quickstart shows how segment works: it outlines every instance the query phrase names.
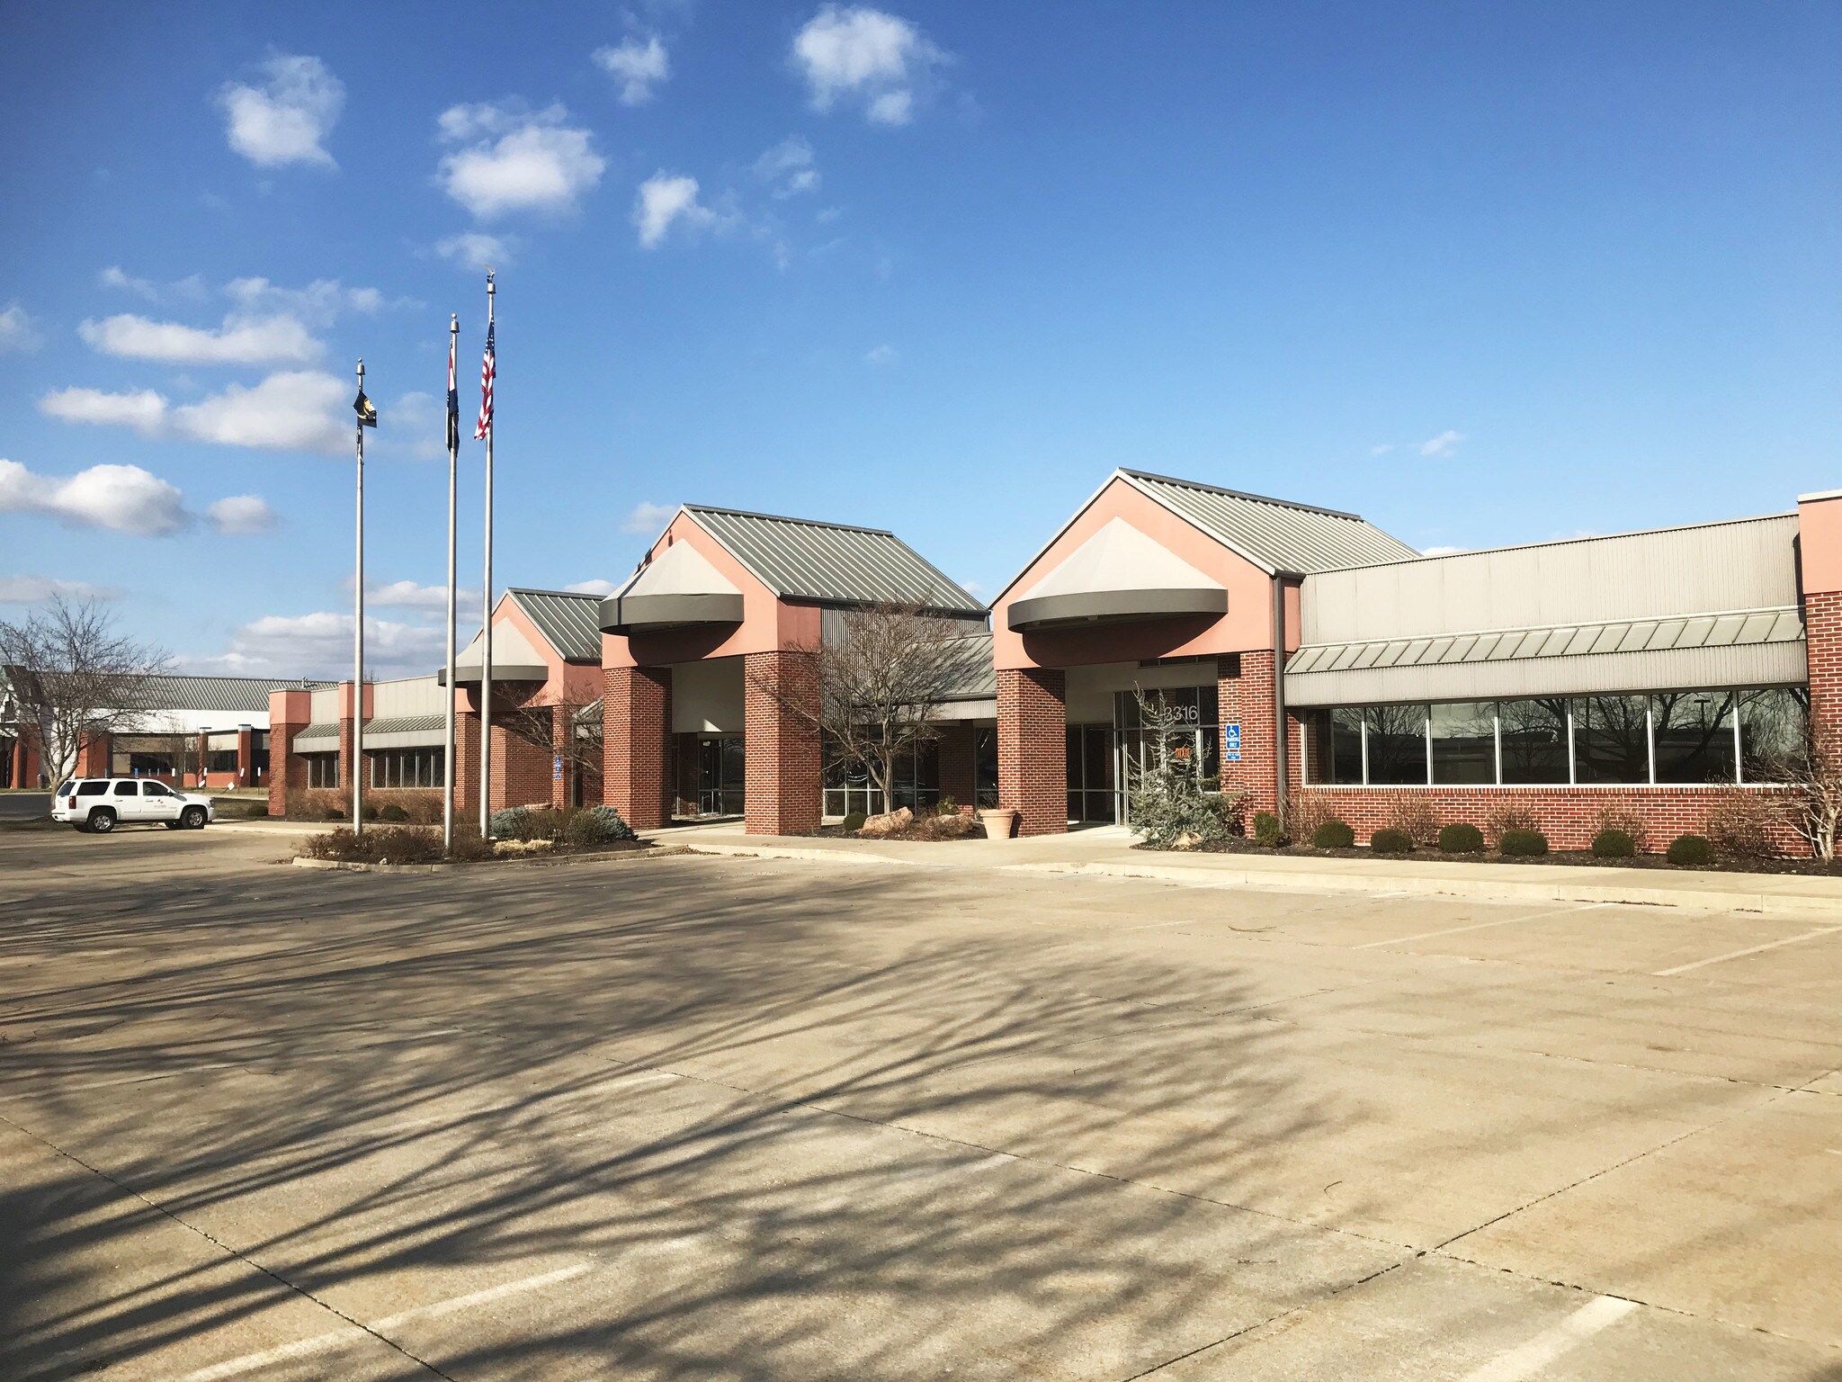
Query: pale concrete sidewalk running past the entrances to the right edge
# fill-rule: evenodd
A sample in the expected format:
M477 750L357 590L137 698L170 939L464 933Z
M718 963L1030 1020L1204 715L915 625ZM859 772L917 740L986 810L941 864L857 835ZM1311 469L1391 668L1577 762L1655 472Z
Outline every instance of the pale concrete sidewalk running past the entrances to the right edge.
M643 831L717 855L818 859L840 864L1002 868L1030 873L1155 879L1190 888L1286 888L1444 896L1483 901L1584 901L1684 907L1704 912L1811 916L1842 925L1842 877L1719 873L1584 864L1481 864L1407 859L1315 859L1267 853L1177 853L1135 849L1122 826L1020 840L851 840L744 835L740 824Z

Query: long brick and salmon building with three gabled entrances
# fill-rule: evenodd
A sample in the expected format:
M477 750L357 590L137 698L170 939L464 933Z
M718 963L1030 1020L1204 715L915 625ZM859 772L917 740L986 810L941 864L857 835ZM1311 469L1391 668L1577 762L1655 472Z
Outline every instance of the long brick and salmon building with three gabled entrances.
M816 649L875 606L962 630L963 676L893 802L810 717ZM494 667L494 807L604 800L635 826L788 835L950 796L1065 831L1129 816L1148 695L1253 809L1310 802L1359 838L1404 803L1514 811L1580 846L1617 805L1667 838L1724 794L1772 791L1807 724L1842 733L1842 490L1424 556L1356 514L1116 470L989 612L892 533L685 505L602 601L507 591ZM477 639L457 680L472 811ZM367 697L372 787L438 785L437 678ZM273 698L273 794L350 781L352 700L350 684Z

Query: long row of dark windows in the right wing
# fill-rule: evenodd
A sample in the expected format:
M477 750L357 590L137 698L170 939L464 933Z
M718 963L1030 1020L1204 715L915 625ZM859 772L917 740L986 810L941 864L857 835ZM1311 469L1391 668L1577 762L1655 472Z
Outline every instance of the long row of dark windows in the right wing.
M1770 783L1805 687L1339 706L1306 715L1306 781L1369 787Z

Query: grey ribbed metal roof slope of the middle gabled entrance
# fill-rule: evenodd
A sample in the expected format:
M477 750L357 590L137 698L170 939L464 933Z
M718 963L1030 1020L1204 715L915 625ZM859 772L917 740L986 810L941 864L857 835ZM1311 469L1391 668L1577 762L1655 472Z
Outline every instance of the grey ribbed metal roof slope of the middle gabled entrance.
M985 614L984 604L893 533L696 503L687 503L685 512L777 599Z

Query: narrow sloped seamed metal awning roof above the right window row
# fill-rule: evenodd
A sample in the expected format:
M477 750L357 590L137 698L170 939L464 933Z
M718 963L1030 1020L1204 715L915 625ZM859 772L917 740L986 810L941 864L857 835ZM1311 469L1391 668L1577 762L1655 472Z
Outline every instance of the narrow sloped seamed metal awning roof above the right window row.
M1545 628L1494 628L1477 634L1380 638L1358 643L1319 643L1286 662L1288 676L1367 671L1370 667L1431 667L1463 662L1564 658L1597 652L1661 652L1720 649L1754 643L1796 643L1803 619L1796 608L1728 610L1724 614L1612 619Z

